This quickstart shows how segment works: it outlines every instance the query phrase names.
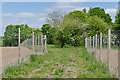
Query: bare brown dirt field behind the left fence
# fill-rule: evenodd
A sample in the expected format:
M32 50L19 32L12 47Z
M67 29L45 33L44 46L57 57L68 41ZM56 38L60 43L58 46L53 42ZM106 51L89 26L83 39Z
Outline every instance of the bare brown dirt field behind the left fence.
M34 54L34 52L26 47L20 48L20 57L24 58ZM18 47L2 47L2 66L6 67L10 63L14 63L19 60L19 48Z

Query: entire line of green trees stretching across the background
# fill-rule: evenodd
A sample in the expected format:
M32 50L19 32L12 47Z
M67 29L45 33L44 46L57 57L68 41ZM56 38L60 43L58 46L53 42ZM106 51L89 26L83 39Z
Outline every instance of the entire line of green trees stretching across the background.
M30 28L27 24L8 25L3 37L4 46L18 45L18 28L21 28L21 42L32 38L34 31L35 36L47 35L49 44L61 47L84 46L85 37L106 33L108 29L120 30L120 11L117 11L115 22L112 22L111 16L100 7L90 8L88 12L85 8L69 13L53 11L47 17L46 22L49 24L43 24L37 29Z

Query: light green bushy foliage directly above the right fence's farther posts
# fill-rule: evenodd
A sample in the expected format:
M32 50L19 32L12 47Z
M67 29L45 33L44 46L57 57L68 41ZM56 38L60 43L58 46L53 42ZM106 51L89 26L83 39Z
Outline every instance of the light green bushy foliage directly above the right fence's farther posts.
M86 32L88 36L95 36L95 34L105 33L110 26L103 19L97 16L92 16L87 19Z

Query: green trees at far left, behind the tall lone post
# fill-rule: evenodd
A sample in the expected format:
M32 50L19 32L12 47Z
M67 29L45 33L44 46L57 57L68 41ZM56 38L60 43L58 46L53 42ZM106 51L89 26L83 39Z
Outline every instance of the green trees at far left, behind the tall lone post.
M32 28L27 24L8 25L3 37L4 46L18 46L18 28L20 28L21 31L21 42L28 38L32 38Z

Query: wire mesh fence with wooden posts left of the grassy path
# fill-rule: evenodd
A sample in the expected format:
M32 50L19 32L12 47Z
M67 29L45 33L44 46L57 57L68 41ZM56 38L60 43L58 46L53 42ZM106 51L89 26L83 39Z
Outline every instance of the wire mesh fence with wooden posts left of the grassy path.
M10 41L0 38L3 72L8 65L21 63L31 54L42 55L47 52L46 35L35 35L33 31L30 37L23 37L19 28L16 38L13 38L15 37L11 37Z

